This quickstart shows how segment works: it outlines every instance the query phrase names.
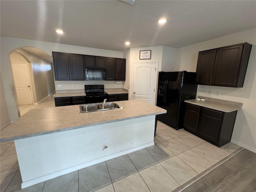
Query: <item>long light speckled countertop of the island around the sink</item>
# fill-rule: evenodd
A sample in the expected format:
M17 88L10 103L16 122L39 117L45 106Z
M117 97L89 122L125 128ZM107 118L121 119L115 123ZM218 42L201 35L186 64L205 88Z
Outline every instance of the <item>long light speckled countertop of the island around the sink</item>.
M0 142L166 113L142 100L118 101L123 109L79 114L79 106L36 108L1 131Z

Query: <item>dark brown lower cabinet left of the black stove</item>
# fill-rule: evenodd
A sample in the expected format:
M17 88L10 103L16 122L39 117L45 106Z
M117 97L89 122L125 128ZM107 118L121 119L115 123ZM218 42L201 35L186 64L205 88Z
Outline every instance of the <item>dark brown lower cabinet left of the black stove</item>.
M54 98L55 106L81 105L85 104L85 96L76 97L56 97Z

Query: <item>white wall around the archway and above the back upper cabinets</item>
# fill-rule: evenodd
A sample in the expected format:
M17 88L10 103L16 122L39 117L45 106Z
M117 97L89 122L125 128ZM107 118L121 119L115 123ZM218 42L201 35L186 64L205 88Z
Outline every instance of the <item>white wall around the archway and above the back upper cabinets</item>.
M11 37L0 37L0 67L1 67L1 76L3 80L4 94L6 96L6 104L8 106L8 112L10 120L18 119L18 109L16 106L16 98L14 95L14 89L12 85L12 73L11 73L11 62L10 62L10 53L14 50L22 47L35 47L40 50L43 50L49 55L52 55L54 52L67 52L67 53L76 53L76 54L86 54L86 55L96 55L96 56L108 56L115 58L123 58L123 52L103 50L96 48L72 46L58 43L42 42L35 40L27 40L20 38L11 38ZM63 84L65 83L62 81Z

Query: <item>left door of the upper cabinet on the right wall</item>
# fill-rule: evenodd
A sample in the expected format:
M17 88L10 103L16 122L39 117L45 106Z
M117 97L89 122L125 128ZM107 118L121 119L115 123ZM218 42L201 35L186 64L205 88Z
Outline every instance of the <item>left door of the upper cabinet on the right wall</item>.
M196 83L202 85L212 84L212 74L215 62L216 49L200 51L196 66Z

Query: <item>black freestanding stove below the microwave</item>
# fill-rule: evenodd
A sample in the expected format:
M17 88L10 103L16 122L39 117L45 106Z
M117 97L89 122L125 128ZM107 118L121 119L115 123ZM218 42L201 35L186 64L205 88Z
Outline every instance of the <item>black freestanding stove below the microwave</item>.
M86 103L100 103L108 99L108 94L104 92L104 85L84 85Z

